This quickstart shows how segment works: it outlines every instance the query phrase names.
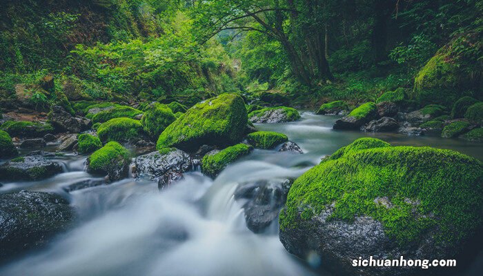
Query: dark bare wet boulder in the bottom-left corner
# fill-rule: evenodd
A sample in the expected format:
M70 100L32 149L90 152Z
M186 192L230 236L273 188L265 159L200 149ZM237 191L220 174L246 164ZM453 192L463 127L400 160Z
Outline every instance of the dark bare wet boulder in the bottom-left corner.
M0 195L0 260L46 244L68 229L74 214L59 195L25 190Z

